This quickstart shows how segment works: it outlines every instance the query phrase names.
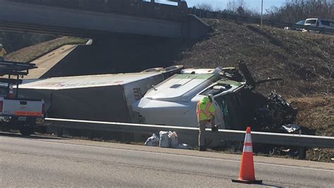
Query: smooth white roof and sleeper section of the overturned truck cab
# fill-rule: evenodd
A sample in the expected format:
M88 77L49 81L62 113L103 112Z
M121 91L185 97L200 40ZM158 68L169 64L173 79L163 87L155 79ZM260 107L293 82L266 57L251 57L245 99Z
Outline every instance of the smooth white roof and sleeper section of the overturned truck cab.
M132 104L137 123L197 127L194 97L217 80L214 74L173 75Z

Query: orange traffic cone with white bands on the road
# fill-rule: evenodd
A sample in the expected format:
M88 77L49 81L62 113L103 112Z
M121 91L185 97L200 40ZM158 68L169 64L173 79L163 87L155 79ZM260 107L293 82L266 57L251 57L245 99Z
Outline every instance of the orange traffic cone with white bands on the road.
M252 146L252 136L250 127L247 127L246 130L244 150L242 151L242 158L240 163L239 179L232 180L232 182L239 182L245 184L262 183L262 180L255 180L253 146Z

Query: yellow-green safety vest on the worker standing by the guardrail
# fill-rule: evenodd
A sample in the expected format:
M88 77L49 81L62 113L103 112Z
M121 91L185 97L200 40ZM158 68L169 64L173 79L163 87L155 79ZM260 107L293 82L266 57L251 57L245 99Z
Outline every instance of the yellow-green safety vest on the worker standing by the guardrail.
M204 97L197 103L197 120L211 120L212 116L214 116L215 109L214 106L209 101L209 98Z

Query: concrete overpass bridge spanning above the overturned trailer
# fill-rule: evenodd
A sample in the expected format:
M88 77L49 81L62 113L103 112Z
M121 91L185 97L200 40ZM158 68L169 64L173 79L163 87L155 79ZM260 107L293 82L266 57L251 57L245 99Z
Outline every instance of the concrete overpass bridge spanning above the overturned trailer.
M95 37L101 34L197 39L210 27L187 4L154 0L0 0L0 30Z

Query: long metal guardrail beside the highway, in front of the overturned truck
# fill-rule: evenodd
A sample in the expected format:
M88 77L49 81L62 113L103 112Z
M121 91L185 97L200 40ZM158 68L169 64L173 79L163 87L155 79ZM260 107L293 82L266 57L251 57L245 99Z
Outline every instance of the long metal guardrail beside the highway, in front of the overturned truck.
M165 125L144 125L132 123L111 123L87 120L66 120L46 118L45 126L54 126L80 130L99 130L110 132L127 132L151 134L161 130L171 130L181 134L197 134L197 127L176 127ZM206 129L210 131L211 129ZM245 131L238 130L218 130L219 134L225 141L243 142ZM299 147L319 147L334 149L334 137L320 137L304 134L281 134L273 132L252 132L252 141L259 144L276 144L284 146Z

